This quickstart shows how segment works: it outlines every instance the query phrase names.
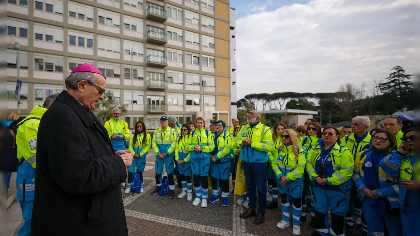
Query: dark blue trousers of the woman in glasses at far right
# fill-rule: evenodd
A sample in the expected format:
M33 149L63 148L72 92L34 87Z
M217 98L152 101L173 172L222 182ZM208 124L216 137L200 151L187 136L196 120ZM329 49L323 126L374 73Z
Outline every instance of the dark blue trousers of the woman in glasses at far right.
M365 214L367 227L369 228L368 235L384 235L385 226L388 229L390 236L401 235L402 222L400 215L389 215L385 213L385 218L381 218L375 213L372 206L370 205L381 201L382 200L380 199L372 199L370 197L364 197L362 200L362 210L363 214Z

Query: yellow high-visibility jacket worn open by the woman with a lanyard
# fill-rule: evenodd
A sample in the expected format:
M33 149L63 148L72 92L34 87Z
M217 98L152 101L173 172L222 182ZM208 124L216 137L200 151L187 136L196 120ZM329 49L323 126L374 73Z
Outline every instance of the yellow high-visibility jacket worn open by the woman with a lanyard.
M318 177L316 173L315 163L318 157L321 155L320 145L316 145L313 150L310 150L306 159L306 171L312 181L315 181L315 177ZM334 144L331 150L331 155L328 157L328 161L333 164L334 173L331 177L327 178L328 185L339 185L340 189L349 190L352 188L351 178L354 170L354 159L351 152L346 147L341 147L339 144ZM348 182L350 181L350 183ZM345 185L345 186L344 186Z

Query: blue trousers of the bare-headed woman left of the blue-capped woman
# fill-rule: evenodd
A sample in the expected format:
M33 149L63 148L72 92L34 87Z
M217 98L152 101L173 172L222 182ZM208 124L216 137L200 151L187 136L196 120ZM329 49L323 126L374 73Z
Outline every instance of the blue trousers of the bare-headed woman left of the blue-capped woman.
M201 180L206 181L205 178L207 178L210 168L210 158L194 158L190 159L189 162L191 163L192 174L201 176L203 177ZM194 180L195 197L207 199L209 192L208 183L207 186L202 187L202 185L202 181L197 182Z

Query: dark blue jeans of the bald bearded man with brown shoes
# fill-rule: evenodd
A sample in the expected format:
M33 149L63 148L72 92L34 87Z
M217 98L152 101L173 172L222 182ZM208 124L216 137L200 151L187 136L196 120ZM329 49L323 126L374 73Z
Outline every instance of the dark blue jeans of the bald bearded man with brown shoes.
M267 163L242 162L242 165L244 167L249 207L257 208L258 191L258 213L265 214L267 208Z

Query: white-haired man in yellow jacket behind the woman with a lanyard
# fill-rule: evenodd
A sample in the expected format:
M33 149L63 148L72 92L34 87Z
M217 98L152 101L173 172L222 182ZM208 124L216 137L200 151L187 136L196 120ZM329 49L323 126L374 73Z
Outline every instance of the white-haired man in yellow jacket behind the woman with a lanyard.
M372 145L372 137L370 136L369 132L367 132L369 127L370 120L367 116L356 116L352 119L353 134L347 135L344 138L344 143L342 143L341 146L350 149L353 159L356 159L360 152L370 148ZM357 197L357 188L354 185L352 193L350 194L349 212L346 215L346 230L354 230L355 223L360 225L362 231L367 232L366 223L362 222L362 202Z

